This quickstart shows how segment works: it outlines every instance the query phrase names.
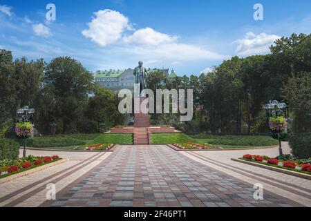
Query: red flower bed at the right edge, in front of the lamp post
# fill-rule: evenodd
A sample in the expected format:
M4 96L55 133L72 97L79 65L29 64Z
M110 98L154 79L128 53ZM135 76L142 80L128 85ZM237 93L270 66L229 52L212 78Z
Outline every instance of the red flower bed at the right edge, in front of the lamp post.
M240 159L311 175L311 158L309 160L296 159L290 155L270 158L261 155L245 154Z

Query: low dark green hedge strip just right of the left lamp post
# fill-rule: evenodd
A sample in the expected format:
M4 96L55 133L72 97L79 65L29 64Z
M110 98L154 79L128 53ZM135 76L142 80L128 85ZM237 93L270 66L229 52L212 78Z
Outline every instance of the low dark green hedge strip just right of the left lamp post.
M55 147L55 146L75 146L75 145L84 145L86 142L83 140L77 140L71 137L35 137L31 141L28 140L29 146L32 147Z

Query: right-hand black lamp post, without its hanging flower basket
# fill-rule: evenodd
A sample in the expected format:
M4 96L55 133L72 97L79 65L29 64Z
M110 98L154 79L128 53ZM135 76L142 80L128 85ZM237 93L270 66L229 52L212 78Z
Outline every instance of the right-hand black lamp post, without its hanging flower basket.
M279 103L278 101L270 101L265 104L265 111L267 113L267 122L269 122L270 117L279 117L281 115L285 116L286 121L288 121L288 106L285 103ZM273 132L273 131L271 131ZM283 155L282 144L281 144L281 130L277 130L278 140L279 140L279 155Z

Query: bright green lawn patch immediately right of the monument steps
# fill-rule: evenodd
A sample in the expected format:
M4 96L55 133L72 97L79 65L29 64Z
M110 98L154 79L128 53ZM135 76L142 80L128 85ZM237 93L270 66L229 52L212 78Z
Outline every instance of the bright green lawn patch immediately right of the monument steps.
M184 133L153 133L152 144L182 144L185 142L196 142Z

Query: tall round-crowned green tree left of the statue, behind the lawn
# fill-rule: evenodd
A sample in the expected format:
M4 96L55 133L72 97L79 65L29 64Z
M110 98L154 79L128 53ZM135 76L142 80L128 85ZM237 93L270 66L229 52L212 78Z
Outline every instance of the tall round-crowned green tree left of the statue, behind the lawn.
M78 119L93 89L93 75L79 61L57 57L46 66L46 86L53 91L58 130L61 133L76 132Z

